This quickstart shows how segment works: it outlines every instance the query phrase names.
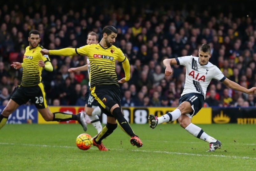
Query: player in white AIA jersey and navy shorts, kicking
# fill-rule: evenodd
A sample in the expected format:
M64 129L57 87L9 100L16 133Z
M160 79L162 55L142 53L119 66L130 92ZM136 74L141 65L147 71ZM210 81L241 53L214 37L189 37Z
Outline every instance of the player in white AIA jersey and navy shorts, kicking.
M171 65L183 65L186 67L186 81L183 93L179 99L179 106L172 112L166 113L161 117L150 114L150 128L154 129L163 122L175 121L178 119L180 126L201 140L210 143L208 152L213 152L221 147L221 142L207 133L200 127L191 123L191 119L202 108L205 100L206 89L210 81L214 78L223 82L231 89L238 90L247 94L255 94L256 87L246 89L241 85L226 78L221 70L209 62L211 58L210 46L206 43L201 45L198 52L199 57L184 56L179 58L163 60L165 76L172 74Z

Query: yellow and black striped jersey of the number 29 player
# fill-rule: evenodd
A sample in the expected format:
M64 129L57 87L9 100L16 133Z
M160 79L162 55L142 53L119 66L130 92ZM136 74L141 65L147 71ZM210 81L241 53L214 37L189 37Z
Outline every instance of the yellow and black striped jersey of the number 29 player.
M29 46L26 47L26 51L23 56L22 86L34 86L41 82L43 68L38 66L38 61L42 60L44 63L47 61L50 62L48 55L42 55L40 53L41 49L43 49L43 47L40 45L33 49L29 49Z

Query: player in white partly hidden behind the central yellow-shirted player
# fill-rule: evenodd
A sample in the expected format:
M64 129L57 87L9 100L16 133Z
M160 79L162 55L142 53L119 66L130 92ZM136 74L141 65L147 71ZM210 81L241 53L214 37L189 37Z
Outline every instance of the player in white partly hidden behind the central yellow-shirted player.
M86 43L87 45L91 44L97 44L98 43L99 36L95 32L90 32L87 35ZM87 58L87 64L84 66L76 67L76 68L69 68L68 72L74 73L77 71L88 71L88 75L90 76L90 61ZM90 80L89 80L89 86L90 86ZM97 130L97 134L101 132L102 125L99 119L99 116L101 114L101 109L98 106L98 102L94 99L94 97L91 95L91 91L89 88L87 88L87 92L85 94L85 113L89 116L91 119L91 123L93 124L94 128Z

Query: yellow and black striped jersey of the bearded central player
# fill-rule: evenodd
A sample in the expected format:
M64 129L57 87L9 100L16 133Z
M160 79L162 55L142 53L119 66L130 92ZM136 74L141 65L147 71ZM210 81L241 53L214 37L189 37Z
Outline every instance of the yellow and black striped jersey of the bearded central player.
M114 45L104 48L98 43L85 45L75 50L77 54L86 55L89 58L91 87L95 85L118 85L115 72L116 60L123 62L126 59L121 49Z

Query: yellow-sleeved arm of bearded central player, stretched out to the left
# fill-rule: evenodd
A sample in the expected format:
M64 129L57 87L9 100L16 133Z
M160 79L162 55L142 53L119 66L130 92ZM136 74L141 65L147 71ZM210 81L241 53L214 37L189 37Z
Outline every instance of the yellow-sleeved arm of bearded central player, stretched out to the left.
M42 49L40 50L42 55L64 55L64 56L72 56L72 55L76 55L76 48L63 48L60 50L47 50L47 49Z

